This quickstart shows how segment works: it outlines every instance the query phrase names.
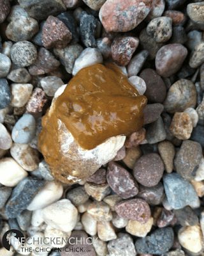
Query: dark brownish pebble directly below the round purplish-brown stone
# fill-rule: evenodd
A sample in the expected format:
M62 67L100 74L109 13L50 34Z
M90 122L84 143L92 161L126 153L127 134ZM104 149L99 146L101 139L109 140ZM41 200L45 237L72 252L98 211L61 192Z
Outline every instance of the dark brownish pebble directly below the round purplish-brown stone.
M154 187L148 188L145 186L139 186L138 197L142 198L150 205L161 204L164 198L164 187L161 182Z

